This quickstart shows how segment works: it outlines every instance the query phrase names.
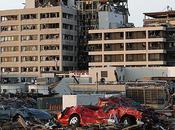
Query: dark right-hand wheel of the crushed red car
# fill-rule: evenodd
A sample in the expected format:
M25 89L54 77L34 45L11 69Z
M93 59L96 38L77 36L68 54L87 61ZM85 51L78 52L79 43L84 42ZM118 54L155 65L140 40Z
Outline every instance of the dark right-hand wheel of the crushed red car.
M128 126L132 126L136 124L136 120L132 117L124 117L122 120L122 125L124 128L128 127Z

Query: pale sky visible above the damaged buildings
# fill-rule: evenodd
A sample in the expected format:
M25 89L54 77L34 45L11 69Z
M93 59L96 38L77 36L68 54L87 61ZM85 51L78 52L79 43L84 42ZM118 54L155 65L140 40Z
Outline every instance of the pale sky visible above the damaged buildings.
M23 8L25 0L0 0L0 10ZM175 10L175 0L128 0L129 22L143 25L144 12L166 11L167 6Z

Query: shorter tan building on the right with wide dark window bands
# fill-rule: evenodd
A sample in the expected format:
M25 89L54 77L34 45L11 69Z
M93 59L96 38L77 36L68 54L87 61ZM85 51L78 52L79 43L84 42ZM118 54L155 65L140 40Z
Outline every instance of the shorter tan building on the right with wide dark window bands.
M175 65L175 11L145 13L144 27L90 30L89 67Z

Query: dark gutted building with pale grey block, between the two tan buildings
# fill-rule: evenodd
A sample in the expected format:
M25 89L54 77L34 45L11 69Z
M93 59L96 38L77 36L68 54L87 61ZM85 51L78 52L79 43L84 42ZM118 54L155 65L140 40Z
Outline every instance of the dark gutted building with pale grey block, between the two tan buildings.
M127 0L77 0L79 25L78 68L88 69L88 30L132 26L128 24Z

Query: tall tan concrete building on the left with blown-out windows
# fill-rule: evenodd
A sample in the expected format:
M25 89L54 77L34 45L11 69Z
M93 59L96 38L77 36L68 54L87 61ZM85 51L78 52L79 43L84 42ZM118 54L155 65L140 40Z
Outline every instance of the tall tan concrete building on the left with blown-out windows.
M77 11L52 2L26 0L24 9L0 11L2 78L77 69Z

